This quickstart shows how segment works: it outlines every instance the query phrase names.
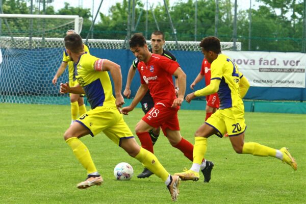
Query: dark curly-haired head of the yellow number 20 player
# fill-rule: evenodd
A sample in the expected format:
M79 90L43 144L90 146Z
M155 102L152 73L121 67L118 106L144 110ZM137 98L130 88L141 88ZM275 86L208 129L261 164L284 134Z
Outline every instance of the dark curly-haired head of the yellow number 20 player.
M203 38L200 47L209 63L212 63L221 53L220 40L214 36Z

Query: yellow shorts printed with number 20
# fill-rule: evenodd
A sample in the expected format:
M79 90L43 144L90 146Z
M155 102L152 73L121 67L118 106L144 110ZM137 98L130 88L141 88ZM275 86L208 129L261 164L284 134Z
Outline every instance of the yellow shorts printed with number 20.
M228 136L240 135L246 129L244 106L242 104L232 108L219 109L205 123L212 126L218 132L216 135L219 137L223 137L225 133L228 133Z

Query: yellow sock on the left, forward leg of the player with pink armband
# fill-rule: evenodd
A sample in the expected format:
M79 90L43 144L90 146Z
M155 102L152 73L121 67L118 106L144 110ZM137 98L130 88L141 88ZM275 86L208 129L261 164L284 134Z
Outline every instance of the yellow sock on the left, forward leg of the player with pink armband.
M77 137L71 137L66 140L67 144L72 148L73 154L83 167L87 170L87 174L96 172L97 169L91 159L90 152L81 140Z

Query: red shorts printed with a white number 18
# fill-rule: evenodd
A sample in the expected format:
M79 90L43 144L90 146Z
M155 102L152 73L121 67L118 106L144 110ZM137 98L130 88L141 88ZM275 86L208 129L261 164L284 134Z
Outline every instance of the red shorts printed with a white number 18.
M161 126L164 135L167 136L167 129L172 131L180 130L179 118L177 118L177 111L179 109L180 107L171 108L157 103L142 117L142 120L152 127Z

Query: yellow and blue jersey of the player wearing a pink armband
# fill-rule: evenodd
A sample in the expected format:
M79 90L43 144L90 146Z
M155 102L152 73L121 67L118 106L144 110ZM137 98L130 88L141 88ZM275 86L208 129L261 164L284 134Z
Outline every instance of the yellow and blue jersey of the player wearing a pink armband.
M78 62L74 63L75 78L83 87L92 109L98 106L116 108L109 74L107 71L95 70L94 65L97 60L99 58L89 53L82 54Z

